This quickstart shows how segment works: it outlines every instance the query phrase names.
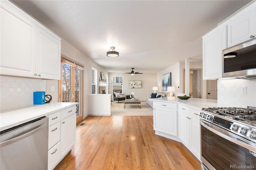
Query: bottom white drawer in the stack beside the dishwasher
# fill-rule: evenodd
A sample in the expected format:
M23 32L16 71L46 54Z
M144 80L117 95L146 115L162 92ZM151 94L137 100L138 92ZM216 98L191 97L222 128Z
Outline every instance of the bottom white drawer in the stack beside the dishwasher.
M48 170L52 170L60 160L60 142L48 151Z

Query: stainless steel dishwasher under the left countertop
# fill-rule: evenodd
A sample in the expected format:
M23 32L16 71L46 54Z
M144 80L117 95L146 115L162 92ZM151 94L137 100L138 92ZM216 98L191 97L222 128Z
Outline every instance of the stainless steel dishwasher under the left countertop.
M1 170L46 170L48 117L0 132Z

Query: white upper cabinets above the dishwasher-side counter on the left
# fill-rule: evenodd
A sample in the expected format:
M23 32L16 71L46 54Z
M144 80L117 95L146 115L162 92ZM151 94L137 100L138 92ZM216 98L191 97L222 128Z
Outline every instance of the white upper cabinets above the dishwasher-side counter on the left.
M60 79L60 38L11 2L0 5L0 73Z

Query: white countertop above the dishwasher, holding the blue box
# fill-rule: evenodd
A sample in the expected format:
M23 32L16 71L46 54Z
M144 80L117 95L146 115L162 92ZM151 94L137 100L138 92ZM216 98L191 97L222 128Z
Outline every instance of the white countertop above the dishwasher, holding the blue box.
M76 102L56 102L44 105L30 105L0 113L0 131L50 115L60 110L77 105Z

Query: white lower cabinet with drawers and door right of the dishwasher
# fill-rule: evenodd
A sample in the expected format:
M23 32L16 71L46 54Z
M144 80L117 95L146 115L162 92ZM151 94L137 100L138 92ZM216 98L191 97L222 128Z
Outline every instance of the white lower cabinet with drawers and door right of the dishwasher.
M48 130L48 170L52 170L76 142L76 106L51 115Z

